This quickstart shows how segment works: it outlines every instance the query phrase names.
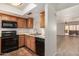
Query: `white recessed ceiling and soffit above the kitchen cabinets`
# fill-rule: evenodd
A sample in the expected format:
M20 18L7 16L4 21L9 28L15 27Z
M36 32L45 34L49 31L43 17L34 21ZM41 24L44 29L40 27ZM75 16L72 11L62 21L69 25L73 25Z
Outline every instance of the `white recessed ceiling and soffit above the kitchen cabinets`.
M22 3L18 6L12 5L11 3L0 3L0 13L27 18L25 15L35 7L37 5L33 3Z

